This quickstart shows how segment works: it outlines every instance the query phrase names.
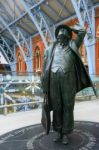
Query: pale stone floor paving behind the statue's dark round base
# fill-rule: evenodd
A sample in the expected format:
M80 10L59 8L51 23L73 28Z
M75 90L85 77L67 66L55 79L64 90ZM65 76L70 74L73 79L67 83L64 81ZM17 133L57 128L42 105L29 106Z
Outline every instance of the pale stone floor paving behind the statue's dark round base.
M99 123L99 100L75 103L75 121L91 121ZM41 123L41 109L0 115L0 135L22 127Z

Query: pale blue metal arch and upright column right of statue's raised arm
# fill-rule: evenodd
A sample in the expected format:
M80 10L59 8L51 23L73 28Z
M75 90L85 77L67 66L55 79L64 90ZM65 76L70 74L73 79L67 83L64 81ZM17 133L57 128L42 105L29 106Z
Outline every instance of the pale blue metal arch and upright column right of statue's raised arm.
M82 13L80 12L80 7L78 7L79 5L81 5L81 2L83 2L83 0L80 1L79 5L78 5L78 2L79 2L78 0L71 0L71 2L72 2L73 7L75 9L75 12L76 12L76 15L78 17L80 25L84 27L85 20L83 20ZM87 6L86 6L86 8L84 8L84 10L85 10L84 15L89 15L88 11L86 12L86 9L87 9ZM89 20L87 20L87 21L89 21ZM89 24L89 27L91 28L91 30L93 31L89 22L88 22L88 24ZM92 24L92 22L91 22L91 24ZM95 37L94 37L93 33L94 33L94 31L91 32L91 39L89 39L88 34L85 36L85 39L84 39L84 43L85 43L86 50L87 50L87 58L88 58L88 66L89 66L89 74L90 75L95 74L95 46L94 46ZM91 46L90 43L91 44L94 43L94 44Z

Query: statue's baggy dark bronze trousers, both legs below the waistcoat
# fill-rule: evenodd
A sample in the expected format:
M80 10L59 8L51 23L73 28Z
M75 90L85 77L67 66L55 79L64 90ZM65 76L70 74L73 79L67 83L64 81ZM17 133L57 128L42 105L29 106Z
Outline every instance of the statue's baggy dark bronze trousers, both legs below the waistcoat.
M76 80L73 72L51 73L50 95L53 106L53 128L68 134L74 127Z

